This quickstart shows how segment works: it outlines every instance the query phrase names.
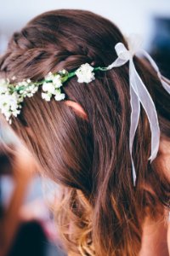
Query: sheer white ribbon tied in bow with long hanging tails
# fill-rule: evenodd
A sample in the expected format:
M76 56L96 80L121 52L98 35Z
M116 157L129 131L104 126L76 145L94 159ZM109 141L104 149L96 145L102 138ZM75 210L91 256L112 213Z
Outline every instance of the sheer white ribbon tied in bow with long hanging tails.
M144 82L139 77L139 73L134 67L133 63L133 55L137 52L141 52L147 59L150 61L152 67L155 68L158 78L161 80L161 84L168 93L170 93L170 86L166 83L166 81L162 80L161 73L156 66L155 61L150 57L150 55L144 50L140 48L139 38L129 38L128 48L125 47L124 44L118 43L115 46L116 54L118 58L114 61L107 70L110 70L113 67L121 67L127 61L129 61L129 85L130 85L130 102L131 102L131 125L130 125L130 136L129 136L129 150L132 161L133 168L133 185L136 184L136 172L133 164L133 140L135 136L135 132L137 130L137 126L139 124L139 114L140 114L140 103L142 104L144 111L150 122L150 131L151 131L151 153L150 153L150 162L152 162L156 158L156 154L159 149L160 142L160 127L158 123L157 113L155 104L150 96L149 91L144 85Z

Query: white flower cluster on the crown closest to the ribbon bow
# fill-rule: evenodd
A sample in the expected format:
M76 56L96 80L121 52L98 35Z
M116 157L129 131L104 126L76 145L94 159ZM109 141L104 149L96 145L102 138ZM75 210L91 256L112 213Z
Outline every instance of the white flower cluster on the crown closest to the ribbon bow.
M94 67L90 66L88 63L82 64L76 71L76 75L78 78L78 83L90 83L92 82L94 77Z

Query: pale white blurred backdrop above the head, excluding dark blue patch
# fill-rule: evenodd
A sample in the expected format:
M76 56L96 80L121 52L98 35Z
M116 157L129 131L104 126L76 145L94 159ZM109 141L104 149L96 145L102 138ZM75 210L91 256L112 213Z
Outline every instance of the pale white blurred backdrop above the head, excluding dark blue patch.
M111 19L127 35L138 32L144 44L151 28L153 17L170 17L170 0L1 0L0 5L0 53L8 38L20 30L36 15L51 9L88 9ZM151 35L150 35L151 36Z

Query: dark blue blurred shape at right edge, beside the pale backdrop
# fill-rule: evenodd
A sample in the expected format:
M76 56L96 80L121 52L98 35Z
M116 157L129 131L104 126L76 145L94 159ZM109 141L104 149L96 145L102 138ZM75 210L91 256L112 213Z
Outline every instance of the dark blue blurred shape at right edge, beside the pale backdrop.
M154 19L154 34L150 41L150 55L161 74L170 79L170 18Z

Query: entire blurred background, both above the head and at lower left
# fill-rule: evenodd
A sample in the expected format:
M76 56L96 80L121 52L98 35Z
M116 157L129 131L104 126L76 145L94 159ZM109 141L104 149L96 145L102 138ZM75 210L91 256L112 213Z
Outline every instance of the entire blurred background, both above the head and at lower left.
M51 9L88 9L115 22L126 36L139 33L144 48L170 79L170 0L1 0L0 4L0 55L13 32L36 15ZM59 189L44 182L50 188L46 195L54 202ZM0 120L0 256L65 255L42 188L36 163Z

